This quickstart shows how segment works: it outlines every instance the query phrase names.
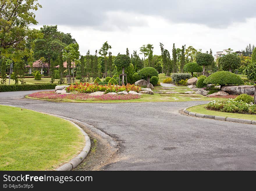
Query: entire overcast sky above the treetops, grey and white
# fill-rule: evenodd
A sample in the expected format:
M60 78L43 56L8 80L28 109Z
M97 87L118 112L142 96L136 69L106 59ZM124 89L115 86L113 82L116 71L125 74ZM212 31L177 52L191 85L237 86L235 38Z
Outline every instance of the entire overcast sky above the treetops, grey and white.
M161 54L159 42L171 53L176 48L193 46L214 53L256 45L255 0L38 0L38 25L58 25L71 33L85 55L105 41L113 55L139 51L143 44L153 44L154 54Z

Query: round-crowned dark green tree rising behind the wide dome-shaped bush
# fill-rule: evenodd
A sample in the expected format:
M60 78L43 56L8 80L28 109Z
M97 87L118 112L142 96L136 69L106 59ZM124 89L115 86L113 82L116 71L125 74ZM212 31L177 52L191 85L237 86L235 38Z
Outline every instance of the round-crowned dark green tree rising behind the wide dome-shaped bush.
M241 59L235 54L227 54L220 58L219 63L223 70L232 70L238 69L241 65Z

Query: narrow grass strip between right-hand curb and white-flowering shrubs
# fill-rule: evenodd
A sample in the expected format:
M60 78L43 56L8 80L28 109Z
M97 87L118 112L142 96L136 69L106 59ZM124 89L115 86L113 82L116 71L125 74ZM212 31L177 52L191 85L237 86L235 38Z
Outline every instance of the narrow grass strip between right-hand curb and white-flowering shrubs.
M223 117L233 117L233 118L238 118L238 119L256 120L256 115L212 111L212 110L206 109L205 106L206 106L206 104L193 106L191 108L188 108L187 110L194 112L194 113L201 113L201 114L205 114L205 115L215 115L215 116L223 116Z

